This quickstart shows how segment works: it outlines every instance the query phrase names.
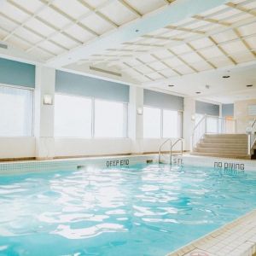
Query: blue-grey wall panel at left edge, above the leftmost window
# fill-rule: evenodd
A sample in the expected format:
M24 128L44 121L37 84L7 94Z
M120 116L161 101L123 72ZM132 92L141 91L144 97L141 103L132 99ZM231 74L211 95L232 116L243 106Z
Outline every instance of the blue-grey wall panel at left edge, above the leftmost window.
M0 83L35 87L35 66L0 58Z

